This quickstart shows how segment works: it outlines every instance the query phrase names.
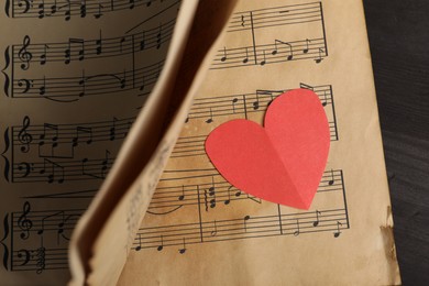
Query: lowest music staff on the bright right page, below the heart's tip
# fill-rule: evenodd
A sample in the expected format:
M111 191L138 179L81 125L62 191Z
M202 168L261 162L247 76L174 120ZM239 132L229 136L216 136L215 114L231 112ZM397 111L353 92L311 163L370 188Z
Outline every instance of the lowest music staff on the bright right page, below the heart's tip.
M200 221L196 223L141 228L134 239L133 250L183 246L187 244L255 239L278 235L298 237L310 232L332 232L339 238L349 229L345 209L326 209L299 213L273 216L244 216L229 220Z

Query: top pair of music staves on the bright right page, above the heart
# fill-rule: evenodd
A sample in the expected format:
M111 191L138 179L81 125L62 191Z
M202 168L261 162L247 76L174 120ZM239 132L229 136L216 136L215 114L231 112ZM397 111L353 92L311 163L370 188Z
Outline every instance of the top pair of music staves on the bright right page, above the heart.
M283 30L293 25L312 25L319 33L300 40L286 40ZM264 29L276 29L278 38L260 41ZM312 59L320 64L328 56L322 3L307 3L237 12L228 33L249 33L249 45L224 46L215 56L211 69L242 66L264 66L298 59ZM262 42L262 43L260 43Z

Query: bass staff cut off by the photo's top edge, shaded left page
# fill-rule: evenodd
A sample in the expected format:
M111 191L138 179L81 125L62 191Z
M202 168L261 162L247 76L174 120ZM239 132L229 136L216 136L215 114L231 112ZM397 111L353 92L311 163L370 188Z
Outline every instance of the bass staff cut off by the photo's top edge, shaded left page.
M100 19L106 13L150 7L152 3L167 0L6 0L6 12L12 18L63 16L69 21L73 16L92 15Z

